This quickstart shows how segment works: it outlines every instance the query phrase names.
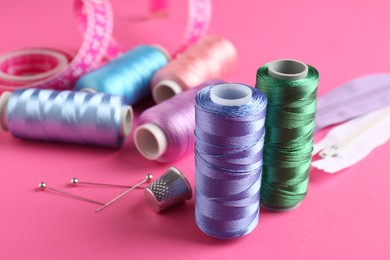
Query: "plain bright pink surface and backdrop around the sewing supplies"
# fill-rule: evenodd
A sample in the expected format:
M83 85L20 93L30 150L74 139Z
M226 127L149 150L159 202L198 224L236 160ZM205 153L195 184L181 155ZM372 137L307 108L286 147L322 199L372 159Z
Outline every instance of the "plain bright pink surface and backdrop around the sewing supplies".
M81 36L72 1L1 0L0 51L25 46L75 50ZM115 37L130 48L181 39L186 1L168 20L145 21L146 1L112 0ZM315 66L319 94L354 77L389 71L390 2L213 1L210 33L230 39L239 64L230 80L254 84L274 59ZM138 112L151 102L138 107ZM323 133L320 133L323 135ZM320 135L316 136L318 138ZM69 188L71 177L131 184L170 165L141 157L130 138L121 150L30 142L0 133L1 259L390 259L390 144L335 175L311 171L309 194L294 211L262 210L248 236L220 241L194 222L194 202L155 214L135 191L99 214L96 206L35 190L48 185L107 201L118 189ZM174 163L194 183L194 157Z

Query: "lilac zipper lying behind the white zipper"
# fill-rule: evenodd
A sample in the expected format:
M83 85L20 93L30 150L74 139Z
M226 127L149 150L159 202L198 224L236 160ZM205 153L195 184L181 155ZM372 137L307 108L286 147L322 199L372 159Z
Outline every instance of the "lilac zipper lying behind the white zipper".
M351 80L318 98L314 132L390 105L390 74Z

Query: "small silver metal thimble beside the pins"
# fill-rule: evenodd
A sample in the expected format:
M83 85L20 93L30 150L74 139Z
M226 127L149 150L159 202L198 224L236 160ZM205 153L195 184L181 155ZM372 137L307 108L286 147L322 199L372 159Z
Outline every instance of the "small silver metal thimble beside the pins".
M191 198L190 183L175 167L170 167L145 189L145 199L156 212L161 212Z

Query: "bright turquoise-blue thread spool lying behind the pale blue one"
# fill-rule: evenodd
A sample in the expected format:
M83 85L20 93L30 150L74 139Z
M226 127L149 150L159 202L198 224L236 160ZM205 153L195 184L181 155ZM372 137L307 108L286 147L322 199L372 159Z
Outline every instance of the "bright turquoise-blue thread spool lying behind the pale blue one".
M76 90L120 95L134 105L149 94L153 75L169 61L160 47L142 45L82 76Z

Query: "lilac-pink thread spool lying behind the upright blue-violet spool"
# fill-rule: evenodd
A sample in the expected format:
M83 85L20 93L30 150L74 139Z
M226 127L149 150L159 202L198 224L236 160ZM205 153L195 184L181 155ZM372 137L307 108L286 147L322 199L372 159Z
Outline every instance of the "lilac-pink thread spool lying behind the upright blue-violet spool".
M210 80L180 93L144 111L135 129L138 151L149 160L172 162L189 151L195 143L195 96L206 86L222 83Z

